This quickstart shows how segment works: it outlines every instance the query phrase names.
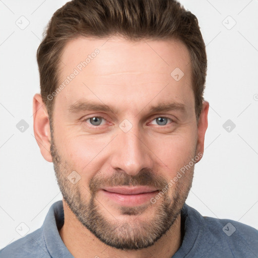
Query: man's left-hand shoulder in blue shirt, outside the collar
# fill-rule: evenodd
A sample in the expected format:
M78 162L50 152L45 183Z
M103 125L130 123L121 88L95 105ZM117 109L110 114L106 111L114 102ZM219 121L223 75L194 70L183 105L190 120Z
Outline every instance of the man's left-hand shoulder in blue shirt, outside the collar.
M42 228L14 241L0 250L0 258L50 257L45 246Z

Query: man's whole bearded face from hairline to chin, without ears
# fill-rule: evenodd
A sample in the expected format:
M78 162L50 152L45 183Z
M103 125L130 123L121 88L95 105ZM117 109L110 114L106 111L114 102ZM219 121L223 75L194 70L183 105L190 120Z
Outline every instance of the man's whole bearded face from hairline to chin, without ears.
M63 199L107 245L148 247L180 214L201 158L188 50L81 37L60 59L69 81L55 94L51 156Z

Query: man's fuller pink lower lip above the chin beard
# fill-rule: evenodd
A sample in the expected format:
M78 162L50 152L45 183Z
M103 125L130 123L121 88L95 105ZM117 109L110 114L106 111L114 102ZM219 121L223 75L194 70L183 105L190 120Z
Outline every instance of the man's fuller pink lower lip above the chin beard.
M108 199L115 201L121 206L136 206L150 202L151 198L157 195L158 191L139 193L138 195L121 195L116 192L100 190Z

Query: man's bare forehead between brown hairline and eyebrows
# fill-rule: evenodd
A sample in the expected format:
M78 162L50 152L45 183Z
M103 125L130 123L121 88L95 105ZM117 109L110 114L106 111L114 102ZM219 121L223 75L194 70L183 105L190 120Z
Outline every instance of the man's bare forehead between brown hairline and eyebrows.
M60 84L76 74L56 96L62 105L80 98L138 109L155 100L193 103L190 56L179 40L79 37L67 43L60 60Z

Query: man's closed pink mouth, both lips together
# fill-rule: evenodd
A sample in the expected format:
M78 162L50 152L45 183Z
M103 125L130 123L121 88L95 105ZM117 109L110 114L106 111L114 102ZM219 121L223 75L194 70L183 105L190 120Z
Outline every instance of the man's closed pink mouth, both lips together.
M138 206L150 202L159 190L150 186L117 186L103 187L100 192L120 206Z

